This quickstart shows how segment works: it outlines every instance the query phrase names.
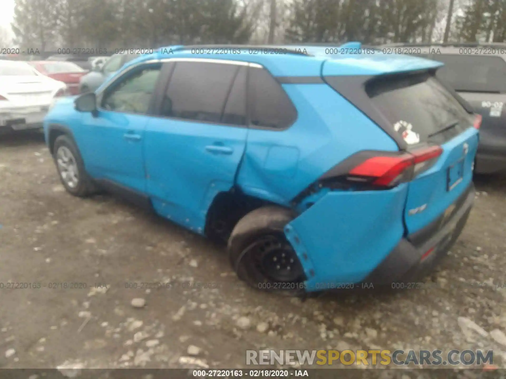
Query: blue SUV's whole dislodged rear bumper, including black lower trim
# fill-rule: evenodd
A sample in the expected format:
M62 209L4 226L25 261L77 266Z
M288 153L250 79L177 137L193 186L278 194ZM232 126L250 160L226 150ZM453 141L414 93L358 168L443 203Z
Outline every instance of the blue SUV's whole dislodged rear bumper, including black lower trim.
M474 185L447 219L438 218L407 237L406 191L401 184L389 191L330 192L286 225L285 235L306 273L306 291L413 281L432 267L466 224Z

